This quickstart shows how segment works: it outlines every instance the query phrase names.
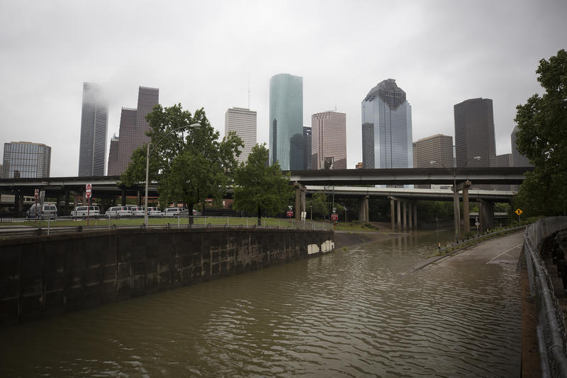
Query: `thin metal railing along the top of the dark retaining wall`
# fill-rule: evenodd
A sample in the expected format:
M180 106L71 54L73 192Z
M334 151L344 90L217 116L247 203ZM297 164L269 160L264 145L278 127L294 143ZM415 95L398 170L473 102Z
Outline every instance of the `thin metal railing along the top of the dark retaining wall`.
M83 224L78 226L57 226L57 223L77 221L85 223L83 218L57 217L56 219L42 219L42 226L16 226L17 223L34 222L32 218L0 218L0 223L11 223L14 226L0 226L1 238L23 238L33 235L53 235L61 233L90 232L100 230L133 230L133 229L173 229L173 228L270 228L270 229L299 229L299 230L332 230L332 224L327 222L313 221L292 221L278 218L262 218L261 225L258 226L257 218L237 218L237 217L218 217L218 216L171 216L155 217L163 219L165 223L147 226L142 217L106 218L99 216L91 218L89 226ZM192 219L192 223L190 222ZM119 221L128 221L131 224L118 225ZM139 222L138 222L139 221ZM38 224L38 223L36 223Z

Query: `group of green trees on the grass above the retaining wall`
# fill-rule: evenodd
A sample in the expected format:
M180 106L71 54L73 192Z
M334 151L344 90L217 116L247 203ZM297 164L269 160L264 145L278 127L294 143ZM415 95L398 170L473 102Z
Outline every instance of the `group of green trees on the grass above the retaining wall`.
M149 180L157 182L165 203L183 202L192 213L205 199L220 200L227 187L234 188L234 208L248 213L279 213L288 204L293 188L279 164L268 165L266 145L255 145L246 162L237 162L244 146L236 133L222 140L210 126L203 108L191 114L181 104L156 105L146 117L150 130ZM145 182L147 145L137 148L121 184Z

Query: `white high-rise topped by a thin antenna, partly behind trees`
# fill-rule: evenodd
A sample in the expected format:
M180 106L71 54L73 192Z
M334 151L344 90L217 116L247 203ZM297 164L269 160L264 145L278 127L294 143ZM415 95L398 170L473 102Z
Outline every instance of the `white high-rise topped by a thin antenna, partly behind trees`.
M244 142L244 147L237 160L247 161L252 147L256 145L256 111L245 108L228 109L225 113L225 135L228 135L230 131L235 131Z

